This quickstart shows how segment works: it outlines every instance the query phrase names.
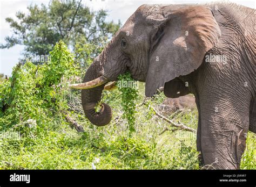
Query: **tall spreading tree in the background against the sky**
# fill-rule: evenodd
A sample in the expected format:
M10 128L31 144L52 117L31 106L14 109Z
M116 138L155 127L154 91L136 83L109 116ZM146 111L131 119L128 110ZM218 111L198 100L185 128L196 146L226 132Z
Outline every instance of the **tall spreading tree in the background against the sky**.
M118 24L106 22L105 10L91 11L82 0L52 0L48 6L31 4L28 10L28 14L18 11L17 21L5 19L14 34L6 37L6 44L1 44L0 48L19 44L25 46L25 56L48 55L59 40L72 49L80 39L99 45L102 38L111 38L120 27L120 21Z

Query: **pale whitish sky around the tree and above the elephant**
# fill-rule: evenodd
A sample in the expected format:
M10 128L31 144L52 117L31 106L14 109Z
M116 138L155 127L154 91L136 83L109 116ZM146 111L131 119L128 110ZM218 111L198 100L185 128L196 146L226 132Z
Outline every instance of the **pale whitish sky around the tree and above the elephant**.
M0 0L0 44L5 44L4 38L12 35L12 30L5 18L15 18L17 11L28 13L27 6L32 4L49 4L50 0ZM118 23L118 19L125 23L136 9L142 4L182 4L182 3L207 3L214 2L211 0L82 0L83 4L89 6L92 10L105 9L109 11L107 21L113 20ZM226 1L227 2L227 1ZM230 0L228 2L238 3L255 9L254 0ZM16 45L9 49L0 49L0 73L11 75L12 67L18 63L18 59L22 57L24 46Z

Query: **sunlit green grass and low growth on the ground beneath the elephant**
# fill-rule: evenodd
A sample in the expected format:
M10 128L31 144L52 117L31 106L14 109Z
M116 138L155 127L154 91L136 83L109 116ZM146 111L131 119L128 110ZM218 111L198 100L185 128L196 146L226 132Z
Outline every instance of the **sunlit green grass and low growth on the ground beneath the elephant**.
M113 110L111 123L96 127L84 117L77 91L66 91L71 117L84 127L84 133L71 129L61 113L50 123L38 126L33 122L19 124L22 138L0 138L0 169L199 169L196 134L187 131L166 131L170 124L142 105L144 90L140 84L136 105L136 132L129 136L127 121L122 117L120 92L104 92L104 102ZM161 93L151 105L161 110ZM185 110L172 118L189 127L197 127L197 110ZM17 132L10 128L6 132ZM5 133L6 133L5 132ZM2 134L3 135L3 134ZM248 133L241 169L255 167L255 134Z

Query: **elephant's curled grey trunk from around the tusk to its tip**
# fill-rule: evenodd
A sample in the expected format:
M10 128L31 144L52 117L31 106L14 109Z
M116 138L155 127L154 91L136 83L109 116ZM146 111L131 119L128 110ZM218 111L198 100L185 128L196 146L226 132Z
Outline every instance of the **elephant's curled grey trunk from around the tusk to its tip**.
M99 77L102 77L100 76L99 70L100 67L98 66L98 64L93 63L86 71L83 82L92 83L93 80L99 80ZM104 126L109 124L112 118L111 107L105 103L102 103L100 105L99 112L95 111L95 106L102 97L102 91L106 82L107 81L104 80L104 83L98 84L97 87L82 90L82 105L85 116L91 121L92 124L97 126Z

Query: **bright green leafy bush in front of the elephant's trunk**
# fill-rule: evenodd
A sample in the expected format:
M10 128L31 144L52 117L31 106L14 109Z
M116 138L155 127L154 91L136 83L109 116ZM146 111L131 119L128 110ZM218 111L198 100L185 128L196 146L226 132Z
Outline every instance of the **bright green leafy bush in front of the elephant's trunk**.
M44 124L52 113L68 107L61 93L62 80L77 73L73 55L64 42L59 41L50 52L50 59L38 66L32 62L24 66L17 64L9 80L0 84L1 128L28 119Z

